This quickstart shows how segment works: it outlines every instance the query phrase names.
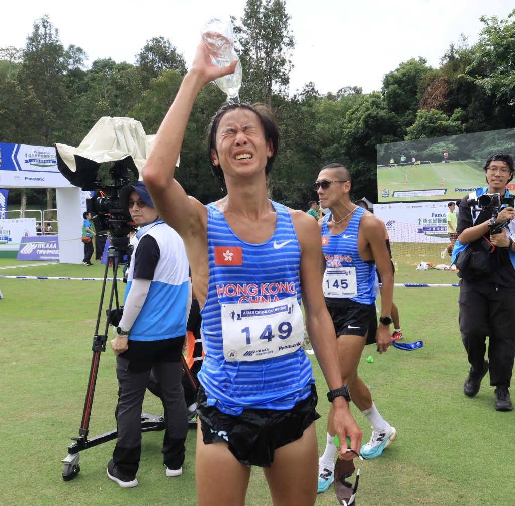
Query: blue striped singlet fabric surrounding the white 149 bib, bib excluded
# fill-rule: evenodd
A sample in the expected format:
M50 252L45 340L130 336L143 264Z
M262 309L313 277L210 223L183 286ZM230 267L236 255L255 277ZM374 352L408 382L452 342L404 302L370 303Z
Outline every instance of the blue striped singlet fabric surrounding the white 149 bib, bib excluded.
M201 310L205 357L198 378L208 405L230 415L239 415L244 409L291 409L310 395L315 382L311 362L300 347L292 346L293 352L254 361L226 360L224 353L224 306L236 308L225 316L234 320L238 306L233 304L259 307L257 304L275 301L270 305L277 307L286 298L299 306L301 303L300 247L295 229L288 210L281 204L272 205L277 213L276 228L272 237L260 244L239 239L216 205L207 206L209 282ZM293 331L303 336L302 318L300 325L300 330L297 324ZM278 341L277 334L266 331L262 336L265 346L270 336L274 342L287 342Z

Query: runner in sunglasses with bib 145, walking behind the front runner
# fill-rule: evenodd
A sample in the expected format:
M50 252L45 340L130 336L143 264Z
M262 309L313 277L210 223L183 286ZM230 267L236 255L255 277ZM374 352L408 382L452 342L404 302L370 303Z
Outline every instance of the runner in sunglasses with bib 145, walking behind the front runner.
M357 366L365 344L377 343L380 353L391 343L390 317L393 273L381 221L350 200L350 173L340 164L325 166L313 188L320 206L329 208L319 228L324 257L321 262L325 303L334 322L341 376L347 378L352 402L372 426L372 437L361 454L373 459L397 436L379 414L370 391L358 377ZM381 274L381 318L375 313L375 268ZM350 381L349 381L350 379ZM333 410L329 412L327 443L319 460L318 492L325 492L334 480Z

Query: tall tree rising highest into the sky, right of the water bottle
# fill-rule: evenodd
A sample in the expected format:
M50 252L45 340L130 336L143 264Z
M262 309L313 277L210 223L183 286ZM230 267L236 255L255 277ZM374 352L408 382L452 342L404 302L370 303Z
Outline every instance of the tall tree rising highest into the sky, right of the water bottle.
M247 0L241 25L234 26L242 62L242 91L250 101L272 106L272 93L285 93L295 39L283 0ZM239 47L238 47L239 46Z

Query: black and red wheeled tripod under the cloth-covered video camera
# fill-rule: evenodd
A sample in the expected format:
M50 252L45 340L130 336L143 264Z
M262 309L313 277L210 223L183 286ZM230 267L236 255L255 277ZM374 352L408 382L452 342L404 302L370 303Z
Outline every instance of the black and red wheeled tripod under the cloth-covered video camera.
M88 379L88 386L86 388L86 396L84 401L84 410L82 413L82 421L80 424L79 435L77 437L72 437L72 440L75 443L68 446L68 455L65 459L62 460L64 464L63 469L63 480L70 481L73 480L78 472L80 471L79 466L79 452L81 450L85 450L87 448L91 448L93 446L97 446L101 443L105 443L110 441L111 439L116 439L118 437L118 431L110 431L105 434L100 434L95 437L88 438L89 432L89 423L91 417L91 408L93 405L93 395L95 393L95 384L98 373L98 364L100 362L100 354L106 351L106 342L107 342L107 334L109 330L109 324L112 319L112 308L113 308L113 300L115 302L115 315L119 311L118 304L118 289L116 285L116 273L118 270L118 265L121 263L124 255L127 255L127 264L130 262L132 247L129 244L129 238L127 235L123 236L112 236L111 237L112 246L108 249L108 261L106 262L106 270L104 272L104 280L102 282L102 290L100 293L100 303L98 305L98 315L95 326L95 334L93 336L93 357L91 359L91 369L90 376ZM104 334L99 334L100 329L100 321L102 317L102 305L104 304L104 296L106 291L106 285L108 280L108 272L109 272L109 264L112 263L113 269L113 279L111 284L111 292L109 295L109 307L106 309L107 319L106 325L104 329ZM118 315L119 319L119 315ZM161 416L149 415L147 413L142 413L141 415L141 431L142 432L150 432L150 431L162 431L164 430L164 418Z

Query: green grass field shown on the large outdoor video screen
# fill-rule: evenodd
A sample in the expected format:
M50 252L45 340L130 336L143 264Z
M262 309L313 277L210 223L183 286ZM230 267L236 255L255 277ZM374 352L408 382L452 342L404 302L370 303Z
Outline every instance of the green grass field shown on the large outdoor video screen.
M464 197L465 192L456 191L456 188L475 188L483 186L484 183L485 174L482 167L472 160L450 161L447 164L436 162L413 167L410 165L377 167L377 201L381 203L457 200ZM382 196L384 190L389 193L386 198ZM439 190L440 193L433 197L417 194L425 190ZM415 193L402 198L394 195L395 192L405 191Z

